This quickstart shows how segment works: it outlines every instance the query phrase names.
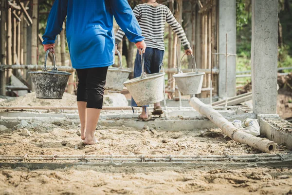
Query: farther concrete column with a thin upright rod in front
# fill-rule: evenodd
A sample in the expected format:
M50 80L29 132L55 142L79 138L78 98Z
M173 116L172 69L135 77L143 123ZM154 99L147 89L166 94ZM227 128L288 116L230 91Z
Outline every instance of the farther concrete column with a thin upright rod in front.
M236 0L219 0L219 53L236 54ZM225 56L219 55L219 98L225 98ZM236 96L236 56L227 59L227 97Z

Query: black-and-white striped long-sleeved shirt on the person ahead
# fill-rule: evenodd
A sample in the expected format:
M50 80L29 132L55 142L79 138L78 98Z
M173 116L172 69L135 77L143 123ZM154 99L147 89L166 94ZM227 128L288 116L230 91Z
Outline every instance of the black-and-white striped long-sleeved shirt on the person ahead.
M186 39L183 27L174 18L171 11L165 5L157 5L156 7L149 4L139 4L133 12L142 29L142 36L145 37L147 47L164 50L164 27L165 22L174 30L178 38L181 40L184 49L190 48L190 43ZM125 33L119 28L115 35L116 44L119 44Z

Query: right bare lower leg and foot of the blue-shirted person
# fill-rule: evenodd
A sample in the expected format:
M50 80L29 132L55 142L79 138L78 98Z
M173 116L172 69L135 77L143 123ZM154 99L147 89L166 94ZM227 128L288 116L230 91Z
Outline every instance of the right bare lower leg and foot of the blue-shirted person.
M95 144L97 142L94 137L94 132L96 125L99 119L101 109L96 108L87 108L87 117L86 117L86 133L84 144Z

